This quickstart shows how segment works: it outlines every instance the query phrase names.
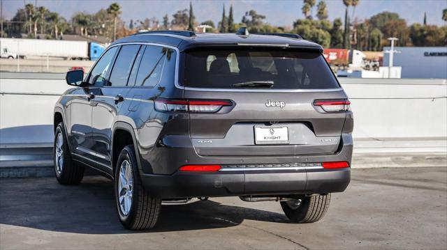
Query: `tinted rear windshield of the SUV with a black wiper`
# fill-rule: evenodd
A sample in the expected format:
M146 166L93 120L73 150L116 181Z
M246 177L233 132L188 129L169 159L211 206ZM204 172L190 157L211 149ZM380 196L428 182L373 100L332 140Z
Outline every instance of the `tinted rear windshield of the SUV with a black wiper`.
M195 88L339 88L318 52L252 48L186 52L184 85Z

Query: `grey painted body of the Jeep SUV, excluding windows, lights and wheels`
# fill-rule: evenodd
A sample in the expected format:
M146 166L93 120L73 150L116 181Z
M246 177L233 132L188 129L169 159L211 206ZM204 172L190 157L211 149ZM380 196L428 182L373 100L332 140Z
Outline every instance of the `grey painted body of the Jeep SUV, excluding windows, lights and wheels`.
M305 40L275 36L230 36L222 46L274 42L302 49L321 49ZM175 67L163 71L159 84L144 86L87 86L61 96L54 111L61 112L73 159L113 176L113 136L117 130L131 134L143 185L162 198L232 196L245 194L313 194L342 192L349 184L349 168L342 170L287 169L286 171L228 171L182 173L185 164L276 164L351 162L353 116L351 112L323 114L316 99L345 99L342 88L305 91L214 90L182 86L184 51L211 46L225 36L184 38L176 35L140 35L117 40L175 49ZM261 44L261 45L260 45ZM98 59L99 60L99 59ZM89 100L87 95L94 94ZM115 101L117 95L123 100ZM231 100L217 114L163 113L154 109L158 97ZM285 107L266 107L268 100ZM288 144L256 145L254 126L286 125ZM200 141L212 141L203 143ZM216 183L219 184L216 186ZM188 193L190 192L190 193Z

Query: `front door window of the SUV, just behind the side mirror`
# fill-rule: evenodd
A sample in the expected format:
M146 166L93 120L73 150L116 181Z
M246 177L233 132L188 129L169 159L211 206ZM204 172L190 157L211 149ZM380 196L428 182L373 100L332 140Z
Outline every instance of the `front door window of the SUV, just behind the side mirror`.
M94 86L104 86L107 83L107 75L110 71L110 67L112 66L113 58L115 57L115 53L117 52L118 47L112 47L107 52L105 52L104 56L99 59L98 63L96 63L93 70L91 70L91 74L89 76L89 84Z

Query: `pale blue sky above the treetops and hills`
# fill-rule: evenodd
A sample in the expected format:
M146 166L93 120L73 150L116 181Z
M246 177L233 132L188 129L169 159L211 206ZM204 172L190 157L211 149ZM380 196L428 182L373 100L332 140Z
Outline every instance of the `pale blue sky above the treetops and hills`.
M122 6L122 18L126 23L129 23L130 19L135 21L146 17L157 17L161 20L166 13L171 19L173 13L177 10L189 8L189 1L178 0L3 0L3 17L13 17L17 8L24 6L24 2L36 3L36 1L38 6L46 6L67 19L75 12L94 13L100 8L107 8L110 3L117 1ZM192 3L196 19L200 22L212 19L217 24L221 19L224 4L227 15L230 5L233 4L236 22L240 22L244 12L250 9L266 15L267 22L279 26L292 26L293 21L303 17L301 0L193 0ZM326 0L326 3L329 19L344 17L342 0ZM444 21L442 21L441 16L444 8L447 8L447 0L360 0L355 14L359 20L362 20L382 11L390 11L399 13L402 18L406 19L407 23L412 24L423 22L424 13L427 13L428 24L443 25ZM315 7L314 13L316 13Z

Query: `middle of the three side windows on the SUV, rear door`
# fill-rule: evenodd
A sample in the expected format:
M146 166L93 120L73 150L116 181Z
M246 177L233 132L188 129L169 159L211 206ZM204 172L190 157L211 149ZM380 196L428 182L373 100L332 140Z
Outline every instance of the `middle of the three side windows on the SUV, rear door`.
M111 86L126 86L138 49L140 49L140 45L123 45L119 49L112 74L110 74L109 84Z

